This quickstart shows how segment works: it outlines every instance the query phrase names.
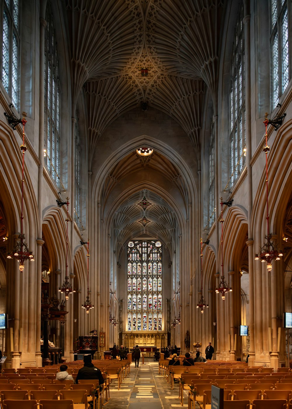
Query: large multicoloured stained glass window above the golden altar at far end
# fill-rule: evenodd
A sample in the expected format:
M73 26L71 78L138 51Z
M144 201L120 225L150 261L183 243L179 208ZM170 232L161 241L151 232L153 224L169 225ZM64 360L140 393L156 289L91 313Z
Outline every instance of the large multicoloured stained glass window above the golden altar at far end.
M162 249L159 241L128 243L128 331L162 331Z

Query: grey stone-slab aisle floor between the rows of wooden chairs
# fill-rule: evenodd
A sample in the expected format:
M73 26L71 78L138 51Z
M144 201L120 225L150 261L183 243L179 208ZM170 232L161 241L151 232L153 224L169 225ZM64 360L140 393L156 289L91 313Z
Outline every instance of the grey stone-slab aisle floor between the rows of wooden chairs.
M121 383L118 390L117 382L110 384L110 400L105 405L107 409L168 409L182 407L178 397L179 384L170 385L162 375L158 375L158 362L145 359L145 364L135 368L131 364L130 374ZM184 406L188 407L188 394L184 391Z

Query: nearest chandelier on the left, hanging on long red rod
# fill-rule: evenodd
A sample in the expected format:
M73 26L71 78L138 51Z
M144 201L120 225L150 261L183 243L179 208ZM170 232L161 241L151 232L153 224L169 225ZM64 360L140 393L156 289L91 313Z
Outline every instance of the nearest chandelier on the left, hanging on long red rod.
M22 119L18 120L18 123L22 124L22 145L20 145L20 150L22 150L22 185L21 185L21 216L20 216L20 234L18 236L18 243L16 243L15 247L11 252L7 254L7 258L16 258L16 260L19 263L19 270L23 272L24 270L24 263L26 260L34 261L34 255L32 252L29 250L27 243L25 242L25 234L23 233L23 188L24 188L24 157L25 157L25 151L27 150L26 144L25 144L25 124L27 123L25 117L26 113L22 112ZM15 128L14 128L15 129Z

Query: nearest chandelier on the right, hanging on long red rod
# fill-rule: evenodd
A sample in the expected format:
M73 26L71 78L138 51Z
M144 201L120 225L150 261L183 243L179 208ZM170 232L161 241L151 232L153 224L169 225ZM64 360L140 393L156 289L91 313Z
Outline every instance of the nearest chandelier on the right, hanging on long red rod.
M269 119L267 119L267 112L265 114L265 138L266 138L266 144L263 147L263 151L265 152L266 155L266 187L267 187L267 234L265 235L265 239L267 240L263 247L260 247L259 253L256 253L254 256L255 260L261 260L262 263L267 263L267 270L269 272L272 271L272 261L273 260L280 260L280 257L283 256L283 253L281 250L279 250L276 245L274 244L272 240L272 234L269 231L269 203L268 203L268 172L267 172L267 153L270 151L270 146L267 144L267 126L270 123Z

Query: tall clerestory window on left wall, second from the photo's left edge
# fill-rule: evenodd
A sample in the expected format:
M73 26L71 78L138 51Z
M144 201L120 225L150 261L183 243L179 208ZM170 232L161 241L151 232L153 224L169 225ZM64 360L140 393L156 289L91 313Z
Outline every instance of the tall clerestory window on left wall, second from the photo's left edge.
M47 3L46 9L47 27L45 30L45 165L57 186L60 181L60 95L61 86L59 79L58 50L55 35L55 26L52 17L52 9Z

